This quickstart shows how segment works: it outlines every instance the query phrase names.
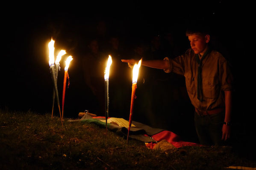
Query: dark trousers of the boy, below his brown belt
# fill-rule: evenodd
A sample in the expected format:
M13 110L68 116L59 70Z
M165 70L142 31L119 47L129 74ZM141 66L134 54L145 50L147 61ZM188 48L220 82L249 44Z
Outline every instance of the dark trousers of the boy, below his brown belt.
M195 112L194 123L200 144L222 145L222 127L224 122L224 112L213 115L198 115Z

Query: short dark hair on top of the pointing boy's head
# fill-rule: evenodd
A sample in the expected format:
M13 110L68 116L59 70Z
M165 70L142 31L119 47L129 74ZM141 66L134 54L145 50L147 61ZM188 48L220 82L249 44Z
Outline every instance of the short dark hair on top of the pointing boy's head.
M186 36L188 37L193 34L202 36L210 35L210 29L207 24L191 24L187 27Z

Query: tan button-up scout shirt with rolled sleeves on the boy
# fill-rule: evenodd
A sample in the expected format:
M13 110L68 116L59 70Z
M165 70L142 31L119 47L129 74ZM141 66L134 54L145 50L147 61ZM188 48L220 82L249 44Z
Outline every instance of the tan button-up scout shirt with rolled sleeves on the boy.
M198 110L224 108L224 92L232 89L232 74L227 60L217 51L212 50L202 61L203 101L197 98L198 63L192 49L184 55L170 59L169 68L165 72L175 72L185 76L186 88L191 103Z

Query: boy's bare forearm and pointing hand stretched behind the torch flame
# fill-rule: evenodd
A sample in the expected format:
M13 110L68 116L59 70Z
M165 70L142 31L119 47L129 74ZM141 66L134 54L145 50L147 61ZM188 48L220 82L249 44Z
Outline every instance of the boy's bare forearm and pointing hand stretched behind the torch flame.
M121 60L124 63L128 63L128 66L132 68L138 61L134 59ZM142 60L141 65L148 66L156 69L168 69L170 67L169 61L165 60Z

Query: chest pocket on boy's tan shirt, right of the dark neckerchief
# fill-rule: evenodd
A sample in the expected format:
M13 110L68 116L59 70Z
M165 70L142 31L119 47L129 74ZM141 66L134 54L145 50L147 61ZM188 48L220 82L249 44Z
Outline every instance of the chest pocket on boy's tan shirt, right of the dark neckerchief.
M206 78L203 81L203 96L210 99L218 98L220 93L220 86L218 79L216 78Z

